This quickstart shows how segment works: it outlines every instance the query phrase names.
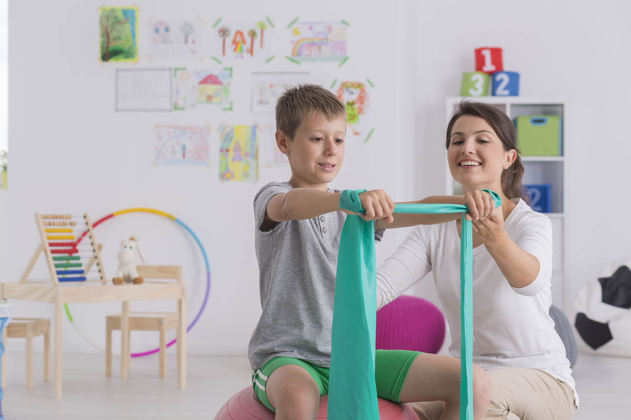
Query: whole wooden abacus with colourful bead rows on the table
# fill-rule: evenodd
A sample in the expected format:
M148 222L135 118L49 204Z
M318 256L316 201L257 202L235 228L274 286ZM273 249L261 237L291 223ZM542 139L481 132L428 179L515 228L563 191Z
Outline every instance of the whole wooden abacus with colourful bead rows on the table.
M42 243L38 245L27 269L22 274L21 283L27 281L28 274L42 251L46 256L53 284L59 284L60 281L86 280L106 283L99 255L101 245L95 243L88 214L73 217L70 214L35 213L35 221ZM53 254L56 255L53 256ZM88 278L89 274L92 274L93 278Z

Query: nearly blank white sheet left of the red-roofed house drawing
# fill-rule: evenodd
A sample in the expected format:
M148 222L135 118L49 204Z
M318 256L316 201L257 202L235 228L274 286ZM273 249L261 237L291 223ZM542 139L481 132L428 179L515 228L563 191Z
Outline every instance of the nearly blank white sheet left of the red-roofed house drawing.
M170 111L171 69L116 69L117 111Z

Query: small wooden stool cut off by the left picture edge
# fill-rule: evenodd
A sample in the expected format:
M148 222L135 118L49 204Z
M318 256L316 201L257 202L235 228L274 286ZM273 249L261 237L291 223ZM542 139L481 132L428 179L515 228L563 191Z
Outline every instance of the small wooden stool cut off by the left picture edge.
M44 380L50 380L50 319L49 318L13 318L11 324L3 330L3 342L6 339L25 337L27 339L27 388L33 388L33 337L44 334ZM2 356L2 387L6 388L6 351Z

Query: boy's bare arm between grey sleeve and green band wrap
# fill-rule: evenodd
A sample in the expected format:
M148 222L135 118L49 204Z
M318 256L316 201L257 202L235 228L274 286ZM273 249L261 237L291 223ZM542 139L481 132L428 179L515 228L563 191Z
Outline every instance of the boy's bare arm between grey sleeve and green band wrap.
M338 211L339 193L296 188L283 196L283 215L289 219L307 220Z

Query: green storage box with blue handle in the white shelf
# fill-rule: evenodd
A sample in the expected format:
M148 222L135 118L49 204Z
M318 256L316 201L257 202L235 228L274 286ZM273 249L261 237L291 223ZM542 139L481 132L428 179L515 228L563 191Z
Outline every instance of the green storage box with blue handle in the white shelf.
M563 156L559 115L521 115L515 120L517 146L522 156Z

